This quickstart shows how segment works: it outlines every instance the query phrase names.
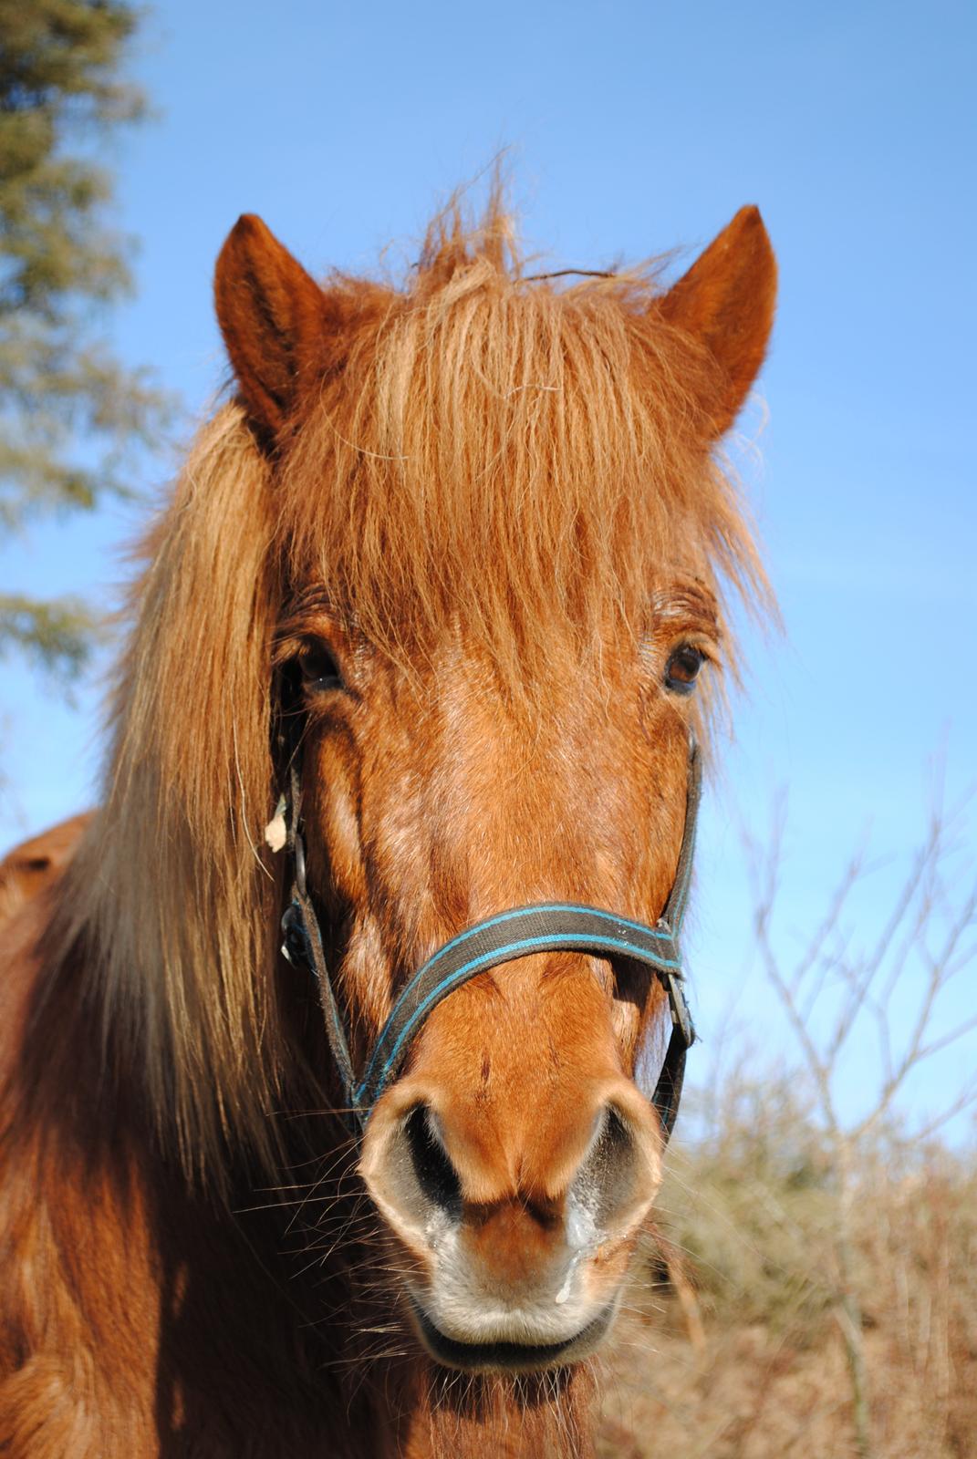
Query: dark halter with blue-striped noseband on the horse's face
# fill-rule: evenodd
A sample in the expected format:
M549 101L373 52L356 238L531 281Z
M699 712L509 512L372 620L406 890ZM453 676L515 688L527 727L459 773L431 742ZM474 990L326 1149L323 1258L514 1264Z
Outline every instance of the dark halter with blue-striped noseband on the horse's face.
M326 1017L326 1033L343 1083L349 1122L356 1132L367 1128L374 1104L400 1072L413 1039L437 1005L472 978L511 963L532 953L574 951L606 959L615 969L641 963L660 979L669 998L672 1033L651 1103L659 1112L667 1141L682 1096L685 1055L695 1040L695 1030L682 991L679 932L685 916L695 823L701 788L700 753L695 737L689 741L689 772L685 802L685 832L672 891L656 926L632 922L600 907L546 902L516 907L476 922L453 937L424 963L397 995L390 1017L377 1034L362 1077L356 1077L342 1014L336 1002L323 935L305 883L305 845L301 820L301 776L292 759L291 783L285 797L288 851L292 861L292 899L282 918L282 951L295 967L313 973Z

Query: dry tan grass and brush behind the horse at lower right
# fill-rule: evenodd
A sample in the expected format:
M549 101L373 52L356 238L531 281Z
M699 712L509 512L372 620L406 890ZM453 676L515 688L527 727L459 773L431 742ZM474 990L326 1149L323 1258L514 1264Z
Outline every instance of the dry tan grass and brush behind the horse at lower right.
M859 1453L828 1145L786 1081L739 1096L670 1161L602 1459ZM977 1161L888 1131L851 1234L872 1459L977 1455Z

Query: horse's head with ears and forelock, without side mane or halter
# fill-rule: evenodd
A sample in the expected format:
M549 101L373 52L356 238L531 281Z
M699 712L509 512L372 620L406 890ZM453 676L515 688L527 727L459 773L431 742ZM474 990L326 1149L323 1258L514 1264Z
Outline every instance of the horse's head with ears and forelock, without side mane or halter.
M466 928L536 905L660 926L719 579L755 566L714 446L773 298L755 209L667 292L526 277L499 217L475 241L441 223L403 292L320 286L256 217L228 238L218 315L269 463L277 775L349 1046L337 1103ZM448 1366L593 1348L660 1182L640 1083L664 982L551 941L486 956L356 1112L387 1258Z

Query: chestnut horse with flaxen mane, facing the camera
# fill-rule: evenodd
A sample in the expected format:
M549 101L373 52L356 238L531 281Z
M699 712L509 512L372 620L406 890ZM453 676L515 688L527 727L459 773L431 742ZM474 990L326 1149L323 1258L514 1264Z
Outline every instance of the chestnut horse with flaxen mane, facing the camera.
M399 287L231 232L237 397L4 931L9 1459L591 1452L774 285L752 207L667 290L527 274L498 198Z

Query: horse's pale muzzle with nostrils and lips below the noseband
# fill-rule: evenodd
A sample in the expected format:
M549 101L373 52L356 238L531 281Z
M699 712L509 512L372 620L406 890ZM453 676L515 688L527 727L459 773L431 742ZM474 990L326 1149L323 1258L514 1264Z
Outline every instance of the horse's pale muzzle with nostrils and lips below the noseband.
M593 1113L575 1112L581 1148L559 1173L559 1195L523 1188L475 1199L450 1154L460 1132L450 1116L441 1121L416 1103L419 1083L405 1081L377 1109L361 1170L399 1250L424 1347L442 1366L466 1370L533 1371L581 1360L612 1325L657 1192L653 1110L625 1080L600 1088Z

